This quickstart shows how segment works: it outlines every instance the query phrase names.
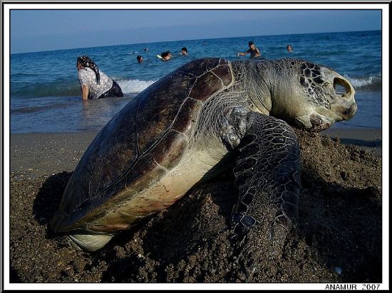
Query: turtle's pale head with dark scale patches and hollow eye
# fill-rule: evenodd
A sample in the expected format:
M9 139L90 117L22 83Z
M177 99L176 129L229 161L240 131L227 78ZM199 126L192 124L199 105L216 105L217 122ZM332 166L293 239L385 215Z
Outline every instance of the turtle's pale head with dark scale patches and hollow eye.
M356 113L354 87L336 71L303 60L274 62L283 64L275 65L278 84L270 90L270 114L296 127L319 132Z

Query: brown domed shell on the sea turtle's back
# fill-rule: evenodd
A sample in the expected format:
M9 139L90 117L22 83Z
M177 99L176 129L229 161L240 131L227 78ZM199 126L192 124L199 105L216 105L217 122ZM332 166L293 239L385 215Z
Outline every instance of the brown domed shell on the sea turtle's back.
M204 102L231 82L227 60L205 58L182 65L140 92L88 146L68 181L53 229L112 232L159 210L145 203L128 211L135 216L123 216L126 220L114 217L112 223L94 225L180 162Z

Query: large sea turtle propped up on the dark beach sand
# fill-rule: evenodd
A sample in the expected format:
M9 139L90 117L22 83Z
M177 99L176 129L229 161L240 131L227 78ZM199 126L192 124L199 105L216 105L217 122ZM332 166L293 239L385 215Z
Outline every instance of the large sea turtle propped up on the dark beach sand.
M273 240L297 213L301 166L289 124L320 131L356 109L350 82L322 65L192 60L140 92L93 139L53 230L98 250L235 165L239 194L230 239L241 243L252 226L266 225Z

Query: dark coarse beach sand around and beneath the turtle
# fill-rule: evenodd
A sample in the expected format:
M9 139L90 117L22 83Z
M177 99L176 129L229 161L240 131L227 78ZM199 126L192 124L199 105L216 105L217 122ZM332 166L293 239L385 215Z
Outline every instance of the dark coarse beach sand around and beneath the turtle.
M229 245L231 174L98 252L73 250L48 223L96 133L12 134L10 282L382 282L381 132L297 134L299 220L277 255L261 240L240 254Z

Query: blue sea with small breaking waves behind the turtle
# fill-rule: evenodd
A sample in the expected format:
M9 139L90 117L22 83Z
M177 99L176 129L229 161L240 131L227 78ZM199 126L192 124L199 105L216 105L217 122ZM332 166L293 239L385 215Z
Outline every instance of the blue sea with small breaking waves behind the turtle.
M249 36L53 50L11 55L11 133L100 130L131 99L180 65L204 57L246 60L237 52L254 41L267 59L299 58L333 68L356 90L358 112L333 127L381 127L381 31ZM294 51L287 52L287 45ZM187 47L188 56L180 55ZM148 48L147 51L144 49ZM172 59L157 55L170 50ZM76 59L88 55L124 97L81 101ZM138 63L142 55L143 63Z

